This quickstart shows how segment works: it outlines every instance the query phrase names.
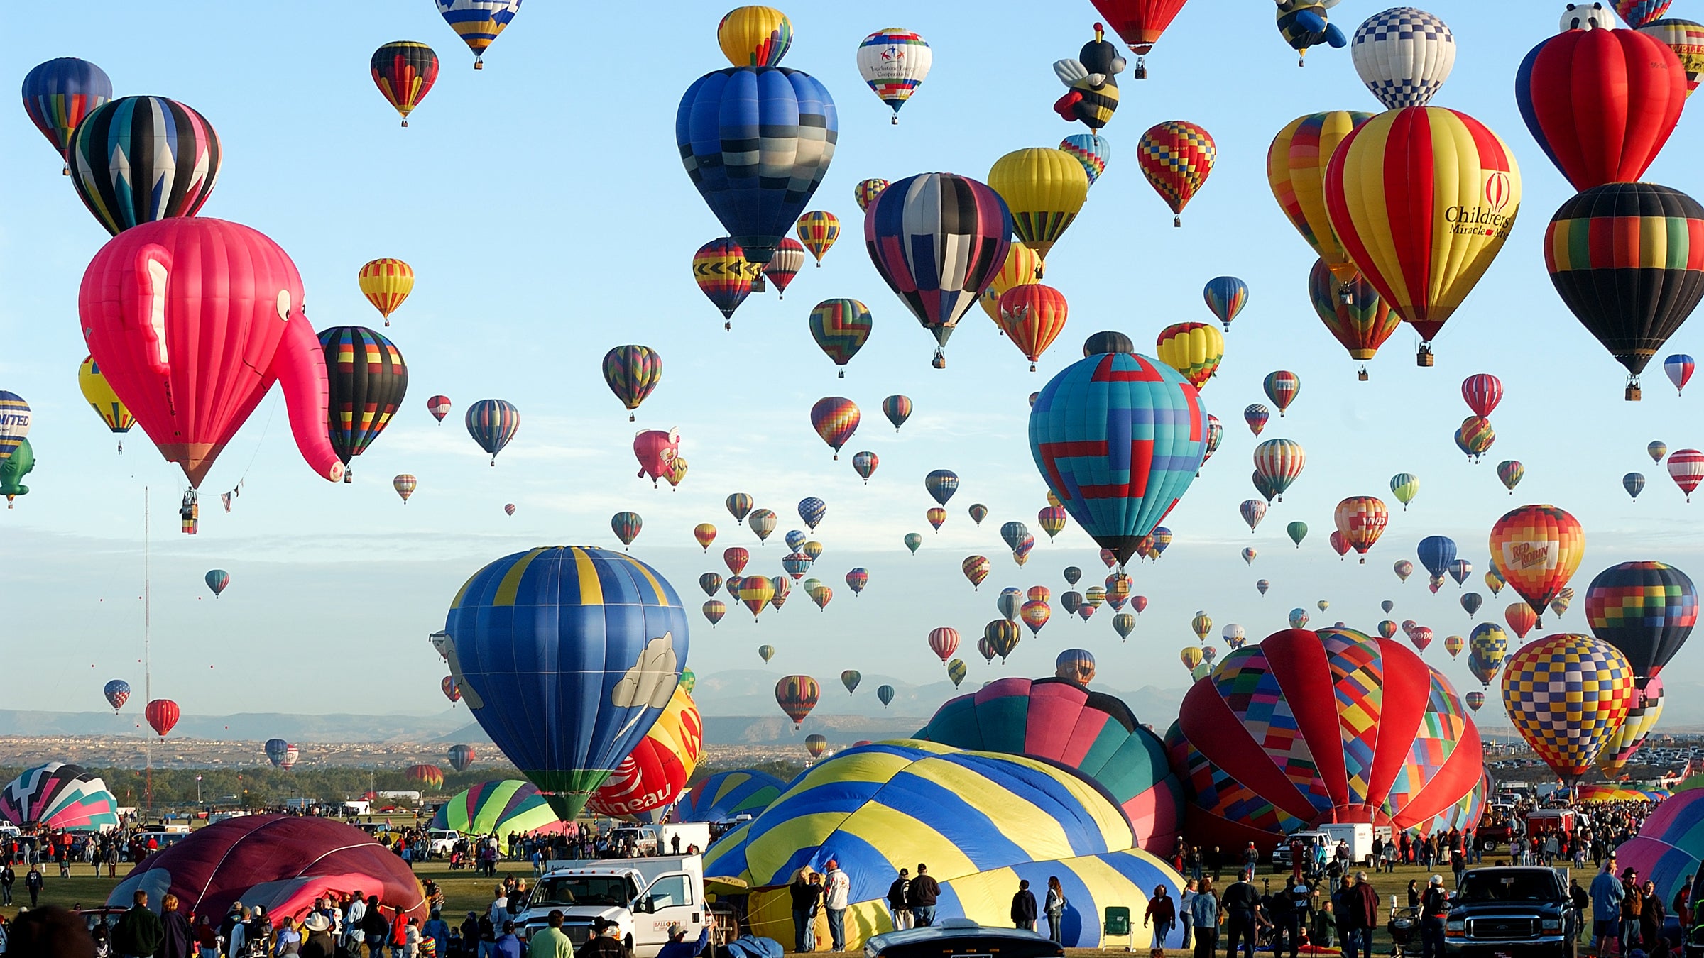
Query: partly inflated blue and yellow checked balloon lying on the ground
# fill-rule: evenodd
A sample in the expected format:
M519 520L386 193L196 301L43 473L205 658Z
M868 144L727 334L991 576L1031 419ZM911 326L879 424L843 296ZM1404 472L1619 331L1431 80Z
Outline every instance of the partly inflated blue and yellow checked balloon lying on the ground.
M711 849L704 871L757 890L748 902L753 931L774 936L791 927L786 885L801 868L823 871L835 859L852 880L845 922L852 948L893 927L888 883L918 861L941 883L937 920L1004 924L1019 880L1045 888L1058 876L1070 902L1065 944L1092 948L1101 941L1101 907L1143 909L1155 885L1177 895L1177 874L1133 851L1133 842L1113 803L1062 767L927 742L878 742L794 779L757 820Z

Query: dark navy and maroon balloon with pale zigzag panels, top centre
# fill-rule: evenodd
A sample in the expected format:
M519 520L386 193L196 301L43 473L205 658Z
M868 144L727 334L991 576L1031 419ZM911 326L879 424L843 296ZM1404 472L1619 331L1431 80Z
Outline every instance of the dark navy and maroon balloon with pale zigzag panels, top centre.
M941 348L1005 263L1012 213L992 188L954 174L918 174L884 189L864 215L864 244L912 315Z

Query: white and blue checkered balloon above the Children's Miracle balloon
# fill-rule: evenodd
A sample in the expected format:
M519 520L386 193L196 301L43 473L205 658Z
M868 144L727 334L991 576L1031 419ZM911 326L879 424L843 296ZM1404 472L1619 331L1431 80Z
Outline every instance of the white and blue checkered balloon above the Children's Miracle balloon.
M1385 109L1426 106L1455 66L1455 34L1425 10L1394 7L1361 22L1350 55Z

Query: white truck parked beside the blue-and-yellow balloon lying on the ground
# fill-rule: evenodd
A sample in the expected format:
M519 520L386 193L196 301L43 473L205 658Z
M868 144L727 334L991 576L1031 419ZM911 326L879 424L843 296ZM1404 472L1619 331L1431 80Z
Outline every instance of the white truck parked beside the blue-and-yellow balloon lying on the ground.
M515 919L525 939L562 912L562 934L581 948L591 938L591 920L620 926L630 958L654 958L668 941L668 926L680 922L692 941L704 927L704 859L700 856L617 857L556 861L538 878L527 910Z

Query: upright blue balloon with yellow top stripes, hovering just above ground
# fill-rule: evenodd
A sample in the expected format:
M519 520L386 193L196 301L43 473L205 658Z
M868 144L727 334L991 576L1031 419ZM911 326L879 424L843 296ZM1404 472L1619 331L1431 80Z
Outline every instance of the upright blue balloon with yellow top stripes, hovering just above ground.
M668 706L687 610L639 559L538 547L474 573L433 641L481 728L567 820Z

